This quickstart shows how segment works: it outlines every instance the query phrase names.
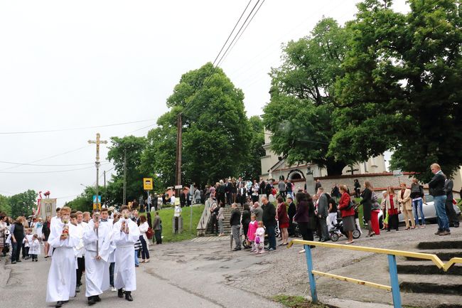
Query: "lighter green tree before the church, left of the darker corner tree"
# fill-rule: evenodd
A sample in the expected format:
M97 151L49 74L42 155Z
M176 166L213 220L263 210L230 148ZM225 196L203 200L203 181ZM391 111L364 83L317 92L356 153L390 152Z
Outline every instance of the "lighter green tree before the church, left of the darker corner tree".
M349 35L335 20L324 18L309 36L287 43L282 65L272 69L271 101L263 120L272 132L272 150L289 164L314 162L338 175L351 162L328 154L338 104L333 87L343 75Z

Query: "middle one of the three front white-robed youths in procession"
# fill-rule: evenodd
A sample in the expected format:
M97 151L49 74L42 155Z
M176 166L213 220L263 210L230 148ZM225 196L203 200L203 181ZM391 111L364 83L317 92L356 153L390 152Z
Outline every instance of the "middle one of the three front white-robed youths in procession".
M106 211L107 213L107 211ZM85 297L88 304L100 302L100 294L109 289L109 248L111 240L107 223L100 223L100 211L93 210L92 220L85 226Z

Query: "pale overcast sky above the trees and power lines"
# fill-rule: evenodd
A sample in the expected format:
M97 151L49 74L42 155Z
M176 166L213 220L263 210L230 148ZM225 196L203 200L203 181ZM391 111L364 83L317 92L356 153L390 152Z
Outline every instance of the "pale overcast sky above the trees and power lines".
M281 43L322 16L345 23L353 0L267 0L220 67L245 93L247 115L269 101ZM51 191L58 205L95 185L95 139L145 135L183 73L213 61L248 0L0 1L0 193ZM252 0L251 7L257 3ZM407 10L404 0L395 1ZM98 129L3 134L138 122ZM65 153L65 154L63 154ZM102 146L101 170L107 147ZM54 157L50 157L54 156ZM174 166L172 166L174 168ZM79 169L57 173L31 174ZM15 172L15 173L5 173ZM141 185L141 182L140 182Z

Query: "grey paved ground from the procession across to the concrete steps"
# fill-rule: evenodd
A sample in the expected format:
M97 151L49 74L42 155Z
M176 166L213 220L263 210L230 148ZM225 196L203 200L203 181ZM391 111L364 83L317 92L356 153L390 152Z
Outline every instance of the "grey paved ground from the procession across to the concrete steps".
M374 238L360 238L356 245L379 248L416 250L425 240L462 240L462 228L452 229L452 235L434 235L436 225L424 230L384 233ZM338 243L344 243L341 238ZM248 251L230 252L229 237L199 238L182 243L151 245L151 262L136 270L138 290L131 304L117 294L106 292L103 301L94 307L268 307L281 306L269 300L275 294L308 296L309 290L304 255L299 247L278 248L273 253L255 256ZM347 275L387 284L386 258L355 251L313 250L316 270ZM21 262L0 265L0 307L47 307L45 287L50 261ZM368 270L366 270L368 269ZM374 270L370 270L374 269ZM11 275L8 275L11 270ZM6 277L9 279L6 281ZM338 307L366 307L364 303L390 304L391 296L382 290L355 286L318 278L318 296L323 302ZM82 288L83 291L83 288ZM421 294L406 294L405 304L424 305ZM342 299L340 302L338 298ZM423 297L422 297L423 298ZM375 305L375 306L374 306ZM49 306L48 306L49 307ZM87 307L81 292L68 307ZM372 304L372 307L378 307Z

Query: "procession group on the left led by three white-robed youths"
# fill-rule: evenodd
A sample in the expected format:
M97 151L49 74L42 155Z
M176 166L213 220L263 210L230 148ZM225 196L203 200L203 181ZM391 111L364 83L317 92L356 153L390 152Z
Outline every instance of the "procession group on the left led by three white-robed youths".
M149 262L149 242L162 243L159 212L139 216L136 209L122 206L119 212L107 208L92 213L56 208L56 216L12 220L0 213L1 256L11 264L38 262L43 248L50 260L46 302L61 307L80 292L85 272L85 297L89 305L100 302L102 292L112 290L132 301L136 290L135 267ZM21 257L22 252L22 257ZM141 258L141 261L139 261Z

